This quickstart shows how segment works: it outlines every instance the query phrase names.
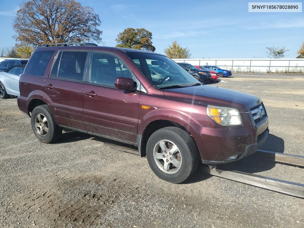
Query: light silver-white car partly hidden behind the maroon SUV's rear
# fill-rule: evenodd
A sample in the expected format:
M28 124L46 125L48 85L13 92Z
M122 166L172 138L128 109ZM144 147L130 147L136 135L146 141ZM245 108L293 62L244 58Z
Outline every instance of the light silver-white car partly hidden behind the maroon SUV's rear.
M24 71L26 64L9 67L0 72L0 98L5 99L12 96L19 96L19 78Z

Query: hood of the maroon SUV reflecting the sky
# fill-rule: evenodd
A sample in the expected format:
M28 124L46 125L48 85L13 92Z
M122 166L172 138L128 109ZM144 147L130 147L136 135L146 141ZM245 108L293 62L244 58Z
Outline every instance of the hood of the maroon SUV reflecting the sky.
M231 107L238 109L240 112L250 112L251 107L262 102L256 96L211 85L164 89L163 91L165 96L170 98L206 105Z

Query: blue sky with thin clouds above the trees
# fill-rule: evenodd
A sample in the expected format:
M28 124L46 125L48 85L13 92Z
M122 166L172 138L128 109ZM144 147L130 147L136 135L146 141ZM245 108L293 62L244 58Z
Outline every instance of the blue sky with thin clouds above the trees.
M12 22L20 2L1 3L0 48L16 43L12 38L15 34ZM176 40L181 47L190 49L192 58L266 58L265 47L269 46L286 46L289 50L286 57L295 58L304 41L303 12L249 13L248 1L80 2L93 7L99 15L102 39L105 46L110 47L116 45L117 34L127 27L152 32L157 53L163 53L164 48Z

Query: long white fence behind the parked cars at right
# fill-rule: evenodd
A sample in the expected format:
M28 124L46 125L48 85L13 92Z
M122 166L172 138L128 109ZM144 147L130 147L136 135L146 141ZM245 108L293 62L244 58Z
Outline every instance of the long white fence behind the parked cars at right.
M304 59L173 59L177 63L218 66L233 72L304 73Z

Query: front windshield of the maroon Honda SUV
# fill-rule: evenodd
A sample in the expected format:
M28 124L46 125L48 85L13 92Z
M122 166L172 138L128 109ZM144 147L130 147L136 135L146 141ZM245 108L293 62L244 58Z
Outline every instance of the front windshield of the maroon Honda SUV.
M127 52L126 55L159 89L201 85L191 74L166 56L140 52Z

